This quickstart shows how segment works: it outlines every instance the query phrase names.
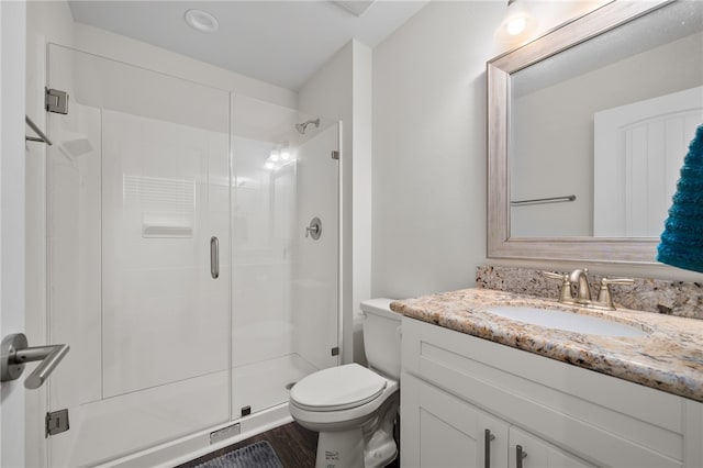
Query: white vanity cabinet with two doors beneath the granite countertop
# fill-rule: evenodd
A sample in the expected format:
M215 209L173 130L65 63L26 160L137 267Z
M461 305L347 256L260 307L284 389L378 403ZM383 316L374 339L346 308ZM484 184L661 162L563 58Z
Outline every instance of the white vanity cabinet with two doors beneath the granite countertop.
M703 466L702 403L409 317L402 330L403 467Z

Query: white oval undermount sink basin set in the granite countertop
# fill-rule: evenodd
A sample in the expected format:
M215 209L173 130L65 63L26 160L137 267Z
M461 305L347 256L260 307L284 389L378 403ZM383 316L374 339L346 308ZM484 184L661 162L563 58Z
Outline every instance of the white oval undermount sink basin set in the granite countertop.
M556 309L539 309L529 305L493 305L486 309L486 311L515 322L529 323L565 332L600 336L647 336L647 332L635 326Z

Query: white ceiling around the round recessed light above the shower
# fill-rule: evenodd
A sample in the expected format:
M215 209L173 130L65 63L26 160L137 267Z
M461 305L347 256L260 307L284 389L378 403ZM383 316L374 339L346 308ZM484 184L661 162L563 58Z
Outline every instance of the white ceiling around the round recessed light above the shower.
M352 38L375 47L428 0L377 0L361 15L323 0L70 1L74 20L291 90ZM368 3L368 2L365 2ZM220 29L196 31L187 10Z

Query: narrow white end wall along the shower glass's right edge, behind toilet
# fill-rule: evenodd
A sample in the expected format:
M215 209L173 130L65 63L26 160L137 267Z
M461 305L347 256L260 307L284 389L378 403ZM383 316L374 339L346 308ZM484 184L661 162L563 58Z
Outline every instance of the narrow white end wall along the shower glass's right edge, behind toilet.
M343 121L343 363L364 361L358 311L359 301L370 298L370 49L352 41L298 96L301 112Z

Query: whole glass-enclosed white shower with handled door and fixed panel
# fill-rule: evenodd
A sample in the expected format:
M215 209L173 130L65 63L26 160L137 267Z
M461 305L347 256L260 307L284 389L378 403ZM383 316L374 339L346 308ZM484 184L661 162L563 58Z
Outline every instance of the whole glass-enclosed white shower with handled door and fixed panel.
M337 122L57 45L47 83L48 466L226 438L338 364Z

